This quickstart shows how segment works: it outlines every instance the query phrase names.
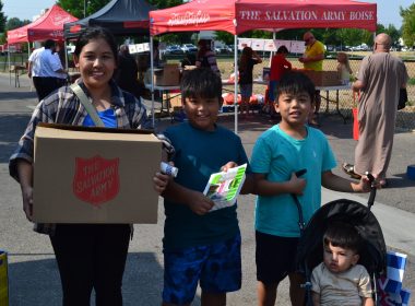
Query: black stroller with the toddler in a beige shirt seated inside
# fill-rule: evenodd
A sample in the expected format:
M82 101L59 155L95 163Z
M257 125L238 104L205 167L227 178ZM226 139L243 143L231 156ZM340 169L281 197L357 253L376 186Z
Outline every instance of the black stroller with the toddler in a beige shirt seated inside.
M376 305L376 279L386 273L387 247L380 225L370 211L375 192L374 189L368 207L347 199L324 204L316 211L307 224L299 240L296 260L297 270L306 278L306 305ZM345 237L341 238L340 236ZM349 262L343 267L344 271L342 269L340 269L342 271L334 271L335 275L331 275L332 281L325 281L325 284L322 284L318 274L327 267L325 257L328 259L331 257L330 252L333 251L333 246L337 250L339 248L349 251L356 249L352 246L354 243L340 242L352 240L353 236L357 237L355 240L357 245L360 245L357 248L358 255L357 250L352 251ZM351 282L345 276L352 271L347 268L354 264L364 276L360 281L354 278L355 280ZM328 270L335 269L339 267L335 268L334 264L332 269ZM310 271L313 271L311 280ZM331 271L329 271L330 273ZM340 279L342 279L341 282L346 282L348 290L344 290L344 286L342 290L336 287ZM363 291L358 291L359 285L364 287ZM352 291L361 302L353 301L349 295Z

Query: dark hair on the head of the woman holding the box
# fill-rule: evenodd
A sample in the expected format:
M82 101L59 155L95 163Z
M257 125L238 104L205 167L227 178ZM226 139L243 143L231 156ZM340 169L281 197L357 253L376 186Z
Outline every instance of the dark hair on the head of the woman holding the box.
M76 57L79 57L82 51L82 48L85 45L87 45L90 40L98 38L103 38L105 42L107 42L109 48L112 51L114 58L117 61L118 51L116 39L107 28L100 26L90 26L82 31L80 36L78 37L75 50L73 51L73 54Z

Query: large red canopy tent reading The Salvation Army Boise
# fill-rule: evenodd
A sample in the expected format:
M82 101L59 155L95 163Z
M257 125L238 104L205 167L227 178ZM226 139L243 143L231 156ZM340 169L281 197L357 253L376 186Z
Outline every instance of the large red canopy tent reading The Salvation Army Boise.
M377 4L353 0L193 0L150 12L152 36L189 31L226 31L234 34L236 71L237 35L249 30L352 27L375 32L376 26ZM236 99L235 94L235 105ZM236 115L235 108L235 132Z

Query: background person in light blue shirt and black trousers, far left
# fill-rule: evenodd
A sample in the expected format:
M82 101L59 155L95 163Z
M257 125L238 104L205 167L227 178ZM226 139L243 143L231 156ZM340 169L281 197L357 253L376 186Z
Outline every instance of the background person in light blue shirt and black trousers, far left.
M51 39L45 42L45 50L39 55L39 75L35 84L37 97L39 101L47 97L61 86L61 73L67 73L63 70L59 57L55 54L56 43Z

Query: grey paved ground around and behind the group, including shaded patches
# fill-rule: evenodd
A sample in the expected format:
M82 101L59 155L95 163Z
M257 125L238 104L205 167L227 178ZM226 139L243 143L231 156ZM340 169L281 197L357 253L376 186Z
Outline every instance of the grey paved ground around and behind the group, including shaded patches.
M60 305L59 275L48 237L32 232L32 225L22 212L19 185L8 175L8 158L15 148L37 101L29 91L27 76L21 78L22 87L10 85L9 75L0 74L0 248L10 256L10 295L12 306ZM221 118L233 128L233 118ZM239 134L250 155L258 136L273 121L256 117L239 123ZM343 125L335 116L322 117L322 130L328 136L337 162L353 161L355 141L352 140L352 125ZM169 125L158 122L158 128ZM372 211L382 226L384 239L390 249L410 255L404 284L415 295L415 181L405 176L406 167L415 164L414 133L399 132L390 166L391 187L378 191ZM335 173L343 175L337 168ZM323 203L336 198L347 198L366 203L367 197L341 195L323 189ZM256 305L254 197L240 197L238 215L242 233L242 290L229 294L228 305ZM155 225L135 225L134 238L123 282L124 305L159 305L163 284L163 207L159 202L159 222ZM278 293L278 305L288 305L287 284ZM412 298L415 302L415 297ZM194 305L200 305L199 297Z

